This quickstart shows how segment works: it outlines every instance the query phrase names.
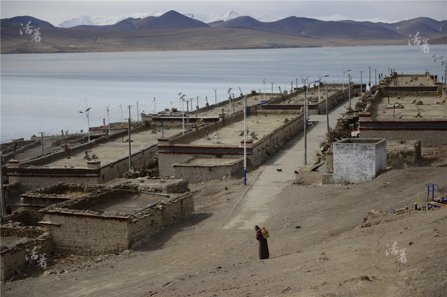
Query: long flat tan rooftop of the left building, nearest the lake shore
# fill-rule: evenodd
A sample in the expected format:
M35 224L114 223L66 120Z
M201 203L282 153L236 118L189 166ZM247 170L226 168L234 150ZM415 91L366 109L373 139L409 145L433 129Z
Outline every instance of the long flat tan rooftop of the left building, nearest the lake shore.
M181 128L164 129L164 138L171 137L182 131ZM100 143L92 148L88 149L88 154L91 157L96 155L97 160L101 161L101 164L105 164L114 161L118 158L124 157L129 154L129 143L123 142L128 138L125 133L124 138L121 137L112 139L108 142ZM149 146L152 143L157 143L157 138L161 138L161 133L152 133L151 130L142 131L139 133L131 134L131 150L132 153ZM87 159L84 159L85 152L78 152L70 155L70 159L59 159L43 164L42 166L48 167L87 167Z

